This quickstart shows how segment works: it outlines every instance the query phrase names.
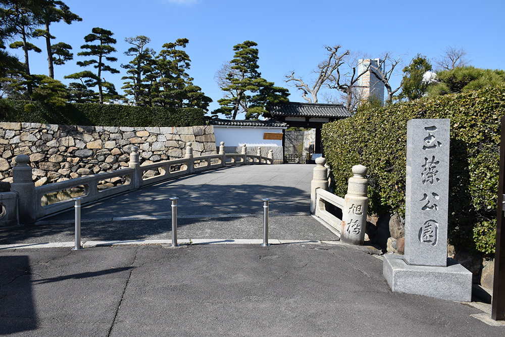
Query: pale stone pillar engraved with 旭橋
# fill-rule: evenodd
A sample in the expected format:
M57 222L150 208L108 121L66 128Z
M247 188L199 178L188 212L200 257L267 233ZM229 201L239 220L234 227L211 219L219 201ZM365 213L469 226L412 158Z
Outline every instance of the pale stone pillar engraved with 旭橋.
M347 244L363 245L365 242L368 213L368 180L365 178L367 171L366 166L352 166L354 175L349 178L347 194L344 197L340 230L340 241Z

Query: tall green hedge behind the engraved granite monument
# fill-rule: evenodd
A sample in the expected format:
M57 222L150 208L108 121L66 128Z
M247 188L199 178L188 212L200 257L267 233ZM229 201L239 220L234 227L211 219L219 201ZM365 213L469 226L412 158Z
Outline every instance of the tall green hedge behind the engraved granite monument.
M500 118L505 87L423 98L323 127L326 159L343 196L351 167L368 167L370 213L405 214L407 121L450 118L449 240L456 247L494 253Z

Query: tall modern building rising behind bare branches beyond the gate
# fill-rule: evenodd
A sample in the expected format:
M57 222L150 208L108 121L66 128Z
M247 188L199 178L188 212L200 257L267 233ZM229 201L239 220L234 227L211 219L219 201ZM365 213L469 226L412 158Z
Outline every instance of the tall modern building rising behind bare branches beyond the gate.
M369 97L375 96L381 102L384 102L384 84L372 73L374 71L376 74L384 74L385 67L384 62L381 59L361 59L358 61L358 74L370 66L369 70L360 77L358 80L359 94L362 100L366 100Z

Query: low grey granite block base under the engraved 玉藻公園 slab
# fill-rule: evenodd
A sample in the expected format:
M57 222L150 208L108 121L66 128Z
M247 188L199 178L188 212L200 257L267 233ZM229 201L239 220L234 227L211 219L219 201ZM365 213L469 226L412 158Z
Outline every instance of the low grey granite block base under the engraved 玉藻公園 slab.
M400 255L384 255L382 274L393 293L472 301L472 273L448 258L447 267L411 266Z

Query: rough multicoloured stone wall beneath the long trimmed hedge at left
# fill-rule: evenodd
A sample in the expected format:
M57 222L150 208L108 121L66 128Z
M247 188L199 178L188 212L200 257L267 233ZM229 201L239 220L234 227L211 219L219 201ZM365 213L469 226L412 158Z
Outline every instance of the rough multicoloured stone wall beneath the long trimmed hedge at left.
M12 182L13 159L30 157L36 186L127 167L130 148L140 150L140 164L216 154L214 128L102 127L38 123L0 123L0 180Z

